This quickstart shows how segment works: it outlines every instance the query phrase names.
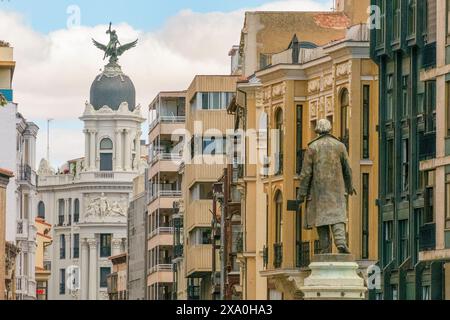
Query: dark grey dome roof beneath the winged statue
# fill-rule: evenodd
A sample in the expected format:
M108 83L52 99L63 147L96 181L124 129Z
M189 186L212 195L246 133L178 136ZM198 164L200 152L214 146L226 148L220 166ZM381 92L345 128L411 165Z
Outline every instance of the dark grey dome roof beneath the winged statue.
M95 110L108 106L118 110L123 102L133 111L136 106L136 89L131 79L122 73L120 66L107 65L91 85L90 102Z

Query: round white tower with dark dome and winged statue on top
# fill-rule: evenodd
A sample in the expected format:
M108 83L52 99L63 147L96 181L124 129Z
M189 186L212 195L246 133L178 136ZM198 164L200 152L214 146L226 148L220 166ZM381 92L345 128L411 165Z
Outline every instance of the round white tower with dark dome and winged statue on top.
M137 40L120 45L116 31L108 45L94 41L105 52L109 63L91 85L90 101L83 116L85 161L83 171L137 172L141 155L141 124L145 119L136 106L136 90L131 79L122 72L118 57L131 49Z

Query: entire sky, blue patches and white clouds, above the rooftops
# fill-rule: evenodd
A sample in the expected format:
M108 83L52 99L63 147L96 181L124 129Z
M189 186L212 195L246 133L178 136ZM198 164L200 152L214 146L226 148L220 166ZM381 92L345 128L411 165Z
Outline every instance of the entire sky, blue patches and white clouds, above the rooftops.
M52 164L83 156L78 117L105 64L90 39L106 43L109 21L122 43L139 38L120 63L145 110L159 91L186 89L195 74L228 74L228 50L239 41L245 11L330 10L332 2L0 0L0 39L14 47L17 62L14 100L41 128L37 159L46 153L48 118Z

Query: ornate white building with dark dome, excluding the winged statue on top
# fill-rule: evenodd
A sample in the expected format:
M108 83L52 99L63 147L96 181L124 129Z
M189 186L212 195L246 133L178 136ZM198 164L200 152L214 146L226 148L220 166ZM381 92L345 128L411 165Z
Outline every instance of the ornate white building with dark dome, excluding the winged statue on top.
M108 257L125 252L132 182L145 169L147 153L140 140L145 119L119 65L109 63L95 78L80 120L84 157L68 161L59 173L43 160L38 171L40 206L54 225L46 257L49 299L106 300Z

